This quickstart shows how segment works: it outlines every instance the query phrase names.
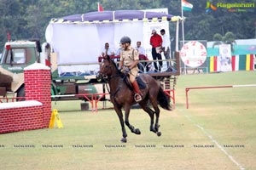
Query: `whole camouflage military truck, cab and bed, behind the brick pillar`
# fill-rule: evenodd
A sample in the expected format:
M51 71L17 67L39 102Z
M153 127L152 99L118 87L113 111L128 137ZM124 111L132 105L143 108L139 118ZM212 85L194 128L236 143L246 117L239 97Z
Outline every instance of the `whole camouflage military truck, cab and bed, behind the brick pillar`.
M56 54L50 54L49 43L44 43L41 48L39 40L6 42L0 65L0 96L11 92L24 97L23 69L35 62L51 67L51 94L56 96L55 99L84 99L82 95L74 94L103 93L102 82L96 78L87 79L82 74L59 77L56 58Z

